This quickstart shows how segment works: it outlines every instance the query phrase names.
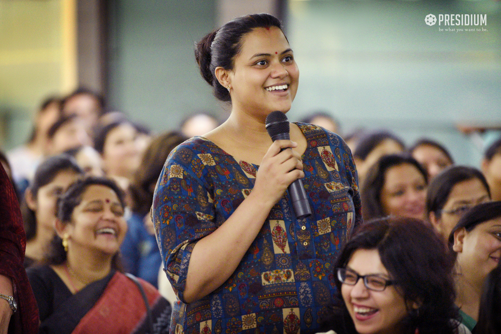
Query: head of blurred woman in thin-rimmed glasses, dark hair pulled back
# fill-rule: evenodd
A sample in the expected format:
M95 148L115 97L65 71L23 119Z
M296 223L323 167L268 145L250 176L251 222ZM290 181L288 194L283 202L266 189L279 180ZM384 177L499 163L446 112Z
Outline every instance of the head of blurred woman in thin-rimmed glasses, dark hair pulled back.
M426 215L447 243L450 231L472 206L490 200L490 190L482 172L469 166L444 169L429 184Z

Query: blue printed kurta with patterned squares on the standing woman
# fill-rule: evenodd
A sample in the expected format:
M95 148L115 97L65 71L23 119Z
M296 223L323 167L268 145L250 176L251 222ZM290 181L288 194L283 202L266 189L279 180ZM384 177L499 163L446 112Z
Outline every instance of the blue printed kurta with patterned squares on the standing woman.
M259 166L236 161L202 137L185 141L167 158L155 191L153 221L179 299L171 332L317 331L336 289L335 257L362 222L361 203L346 143L319 126L297 124L308 142L302 180L313 214L296 219L286 192L228 280L188 304L183 290L194 245L252 191Z

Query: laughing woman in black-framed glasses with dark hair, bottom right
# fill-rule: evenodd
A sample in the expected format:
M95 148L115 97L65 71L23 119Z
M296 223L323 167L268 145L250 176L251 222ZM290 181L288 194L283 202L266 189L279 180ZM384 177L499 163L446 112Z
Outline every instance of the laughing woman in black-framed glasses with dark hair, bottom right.
M366 223L336 262L338 334L469 333L455 320L445 245L414 218Z

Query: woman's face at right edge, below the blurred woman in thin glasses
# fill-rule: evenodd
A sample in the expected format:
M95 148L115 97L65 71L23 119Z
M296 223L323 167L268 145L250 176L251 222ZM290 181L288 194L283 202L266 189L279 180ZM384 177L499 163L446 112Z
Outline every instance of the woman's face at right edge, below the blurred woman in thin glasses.
M464 278L481 290L501 257L501 217L482 222L469 232L464 228L455 231L453 249Z

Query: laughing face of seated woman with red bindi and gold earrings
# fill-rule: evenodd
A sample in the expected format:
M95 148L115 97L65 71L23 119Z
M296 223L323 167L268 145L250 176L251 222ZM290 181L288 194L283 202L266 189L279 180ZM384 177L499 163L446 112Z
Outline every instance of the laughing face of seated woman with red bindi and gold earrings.
M110 256L118 251L126 231L124 208L117 194L101 184L87 187L65 227L69 251L79 248Z

